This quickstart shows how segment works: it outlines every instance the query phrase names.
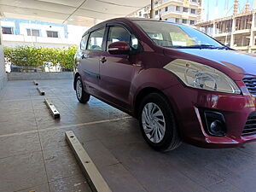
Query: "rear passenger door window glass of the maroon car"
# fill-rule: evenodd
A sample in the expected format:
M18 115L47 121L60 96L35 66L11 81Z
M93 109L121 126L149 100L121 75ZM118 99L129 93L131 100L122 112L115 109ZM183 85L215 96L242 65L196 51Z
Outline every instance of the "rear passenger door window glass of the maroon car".
M91 32L87 49L103 50L102 44L103 44L104 32L105 32L105 28Z

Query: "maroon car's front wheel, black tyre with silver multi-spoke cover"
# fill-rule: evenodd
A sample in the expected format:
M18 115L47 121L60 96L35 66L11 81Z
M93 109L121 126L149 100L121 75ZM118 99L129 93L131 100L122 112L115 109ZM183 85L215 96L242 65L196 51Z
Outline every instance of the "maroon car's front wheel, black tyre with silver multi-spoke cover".
M139 124L144 139L157 151L170 151L182 143L171 105L162 94L145 96L139 110Z

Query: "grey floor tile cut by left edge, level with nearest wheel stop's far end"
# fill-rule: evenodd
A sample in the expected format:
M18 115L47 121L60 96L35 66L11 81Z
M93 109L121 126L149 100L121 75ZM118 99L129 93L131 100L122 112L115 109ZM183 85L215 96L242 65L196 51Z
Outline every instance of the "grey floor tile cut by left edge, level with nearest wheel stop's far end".
M0 158L41 151L38 133L0 138Z

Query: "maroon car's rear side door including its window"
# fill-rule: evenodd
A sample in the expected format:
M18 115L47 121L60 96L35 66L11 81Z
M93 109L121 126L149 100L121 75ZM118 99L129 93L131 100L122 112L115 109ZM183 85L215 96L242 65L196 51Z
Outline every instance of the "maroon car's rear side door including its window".
M97 95L99 90L100 69L99 60L104 49L103 37L105 27L90 32L87 46L82 50L81 71L86 89Z

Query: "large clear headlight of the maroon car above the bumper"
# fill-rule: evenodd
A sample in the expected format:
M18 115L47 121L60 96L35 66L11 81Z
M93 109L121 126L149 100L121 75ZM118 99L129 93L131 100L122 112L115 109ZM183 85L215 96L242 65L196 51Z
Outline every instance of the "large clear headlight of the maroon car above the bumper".
M175 73L189 87L241 94L239 87L226 74L201 63L177 59L164 68Z

